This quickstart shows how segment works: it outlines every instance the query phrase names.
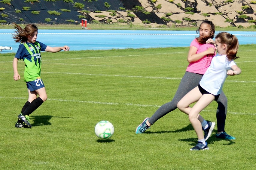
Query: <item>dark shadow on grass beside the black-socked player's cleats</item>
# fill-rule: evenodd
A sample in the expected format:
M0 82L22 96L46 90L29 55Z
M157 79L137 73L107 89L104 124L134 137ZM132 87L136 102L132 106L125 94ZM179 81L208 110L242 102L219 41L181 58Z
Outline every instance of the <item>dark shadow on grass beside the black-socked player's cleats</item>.
M51 118L72 118L72 117L59 117L59 116L50 116L50 115L43 115L43 116L30 116L30 120L33 120L32 126L44 126L44 125L52 125L49 121ZM73 119L73 118L72 118Z

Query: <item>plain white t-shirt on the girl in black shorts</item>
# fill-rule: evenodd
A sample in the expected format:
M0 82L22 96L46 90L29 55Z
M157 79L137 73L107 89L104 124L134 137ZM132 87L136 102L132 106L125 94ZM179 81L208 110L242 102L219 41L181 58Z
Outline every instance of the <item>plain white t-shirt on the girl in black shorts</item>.
M236 63L233 60L229 61L226 55L217 54L212 58L210 67L199 83L200 86L213 95L221 94L225 79L228 76L227 71L233 65L236 65Z

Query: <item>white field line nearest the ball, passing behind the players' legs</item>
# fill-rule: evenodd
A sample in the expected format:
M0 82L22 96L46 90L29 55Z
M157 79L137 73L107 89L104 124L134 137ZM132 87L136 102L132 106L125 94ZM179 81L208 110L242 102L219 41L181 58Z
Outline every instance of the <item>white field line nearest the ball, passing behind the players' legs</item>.
M27 98L24 97L3 97L0 96L0 98L11 98L11 99L22 99L26 100ZM99 101L82 101L82 100L66 100L66 99L51 99L48 98L48 101L61 101L61 102L75 102L75 103L89 103L89 104L104 104L104 105L126 105L126 106L139 106L139 107L160 107L158 105L153 104L132 104L132 103L112 103L112 102L99 102ZM206 112L213 112L215 113L216 110L203 110ZM234 115L252 115L256 116L256 113L241 113L241 112L227 112Z

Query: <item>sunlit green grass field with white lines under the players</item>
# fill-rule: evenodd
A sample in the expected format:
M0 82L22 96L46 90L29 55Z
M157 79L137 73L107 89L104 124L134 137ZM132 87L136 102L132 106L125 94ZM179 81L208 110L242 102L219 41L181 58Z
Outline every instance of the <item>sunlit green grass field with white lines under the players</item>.
M228 77L228 141L208 139L208 151L190 151L197 136L175 110L144 134L136 127L174 96L189 48L148 48L42 53L48 99L30 115L31 129L14 128L27 100L26 84L13 80L14 53L0 54L0 169L255 169L256 45L241 45L239 76ZM24 63L18 70L23 79ZM216 102L201 115L216 122ZM99 140L101 120L115 128Z

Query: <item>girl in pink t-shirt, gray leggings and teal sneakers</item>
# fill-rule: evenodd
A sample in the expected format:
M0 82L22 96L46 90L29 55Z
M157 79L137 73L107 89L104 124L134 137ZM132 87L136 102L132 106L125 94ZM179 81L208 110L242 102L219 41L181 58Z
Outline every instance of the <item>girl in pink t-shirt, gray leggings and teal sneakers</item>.
M190 44L187 56L189 65L186 69L185 75L181 79L172 101L159 107L150 118L144 119L144 121L136 128L136 134L144 133L158 119L177 109L178 101L180 101L181 98L190 90L198 86L201 78L211 64L212 57L216 54L215 46L213 44L206 43L209 38L214 38L215 26L211 21L203 21L197 30L197 33L198 32L199 37L195 38ZM218 133L216 134L216 137L222 139L236 139L235 137L228 135L224 130L227 116L227 97L223 92L221 92L217 103L218 108L216 117L218 122ZM198 120L201 122L205 134L204 138L207 140L212 133L215 122L208 122L200 115Z

